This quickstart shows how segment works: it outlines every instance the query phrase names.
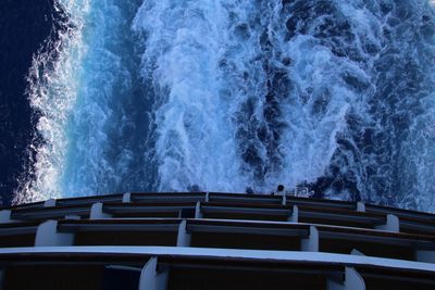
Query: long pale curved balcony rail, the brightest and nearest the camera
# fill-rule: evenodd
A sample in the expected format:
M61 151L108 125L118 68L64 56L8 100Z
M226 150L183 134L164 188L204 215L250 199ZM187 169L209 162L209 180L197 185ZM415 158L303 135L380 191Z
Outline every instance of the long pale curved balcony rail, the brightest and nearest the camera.
M300 251L270 251L270 250L239 250L239 249L212 249L194 247L23 247L23 248L0 248L0 256L9 254L29 253L104 253L104 254L135 254L144 256L171 255L178 257L201 257L201 259L239 259L248 261L264 262L307 262L307 263L335 263L358 266L377 266L401 270L424 270L435 275L435 264L414 262L396 259L375 256L360 256L348 254L335 254L324 252L300 252Z

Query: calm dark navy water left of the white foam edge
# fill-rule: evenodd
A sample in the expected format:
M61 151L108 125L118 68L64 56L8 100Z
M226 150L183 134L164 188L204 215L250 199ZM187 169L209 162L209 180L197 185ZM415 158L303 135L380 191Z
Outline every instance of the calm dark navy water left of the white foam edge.
M0 5L0 194L10 204L18 179L32 167L28 146L36 122L27 100L35 53L57 38L60 13L52 0L4 0Z

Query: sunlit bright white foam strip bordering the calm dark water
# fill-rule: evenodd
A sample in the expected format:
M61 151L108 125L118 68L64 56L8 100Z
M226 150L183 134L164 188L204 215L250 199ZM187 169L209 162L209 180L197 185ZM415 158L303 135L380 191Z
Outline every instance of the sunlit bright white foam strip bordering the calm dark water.
M69 139L65 127L79 87L78 67L85 53L82 31L89 2L58 1L54 9L64 13L69 21L63 29L53 27L59 39L47 40L52 49L41 49L29 71L28 99L38 116L37 136L29 146L35 152L29 155L35 160L15 192L14 203L62 197L60 179Z

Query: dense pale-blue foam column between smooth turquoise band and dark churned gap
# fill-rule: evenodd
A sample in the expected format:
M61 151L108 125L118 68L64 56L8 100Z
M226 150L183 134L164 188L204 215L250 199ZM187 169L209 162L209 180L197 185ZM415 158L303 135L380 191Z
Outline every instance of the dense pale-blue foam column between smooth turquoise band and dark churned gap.
M142 72L156 93L159 190L244 190L234 123L237 98L220 65L249 43L231 39L228 10L246 22L250 1L145 1L133 28L146 40ZM229 55L232 56L232 55Z

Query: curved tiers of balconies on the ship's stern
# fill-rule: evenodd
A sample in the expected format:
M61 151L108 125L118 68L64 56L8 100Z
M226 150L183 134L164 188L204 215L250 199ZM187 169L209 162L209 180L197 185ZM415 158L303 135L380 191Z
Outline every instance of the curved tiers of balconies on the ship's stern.
M435 288L435 215L293 196L23 204L0 211L0 247L2 289Z

